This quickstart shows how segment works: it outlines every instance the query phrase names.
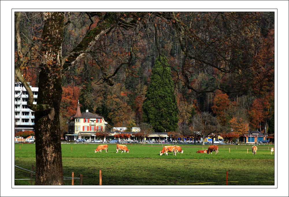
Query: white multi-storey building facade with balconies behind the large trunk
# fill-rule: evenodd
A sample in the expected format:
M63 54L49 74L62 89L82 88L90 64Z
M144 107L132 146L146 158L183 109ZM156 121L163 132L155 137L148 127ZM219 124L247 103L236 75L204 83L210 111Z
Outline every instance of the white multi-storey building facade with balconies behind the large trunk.
M29 82L28 82L29 84ZM31 87L34 96L33 104L37 103L38 87ZM14 83L14 117L15 125L32 126L34 125L34 111L27 106L28 94L21 82Z

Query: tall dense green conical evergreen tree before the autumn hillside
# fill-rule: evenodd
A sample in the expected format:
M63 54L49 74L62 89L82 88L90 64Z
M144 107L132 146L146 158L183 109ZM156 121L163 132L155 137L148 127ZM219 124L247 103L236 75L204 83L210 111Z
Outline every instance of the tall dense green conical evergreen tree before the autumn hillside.
M155 132L170 132L177 128L178 108L173 90L171 68L165 57L159 56L151 73L151 84L143 103L144 122Z

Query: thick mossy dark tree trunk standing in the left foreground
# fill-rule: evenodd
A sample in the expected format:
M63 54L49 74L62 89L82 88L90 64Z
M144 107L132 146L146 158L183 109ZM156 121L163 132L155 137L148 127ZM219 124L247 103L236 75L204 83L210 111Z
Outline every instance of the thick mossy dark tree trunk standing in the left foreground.
M59 112L64 15L44 12L44 21L37 103L51 105L53 110L35 112L35 185L63 185Z

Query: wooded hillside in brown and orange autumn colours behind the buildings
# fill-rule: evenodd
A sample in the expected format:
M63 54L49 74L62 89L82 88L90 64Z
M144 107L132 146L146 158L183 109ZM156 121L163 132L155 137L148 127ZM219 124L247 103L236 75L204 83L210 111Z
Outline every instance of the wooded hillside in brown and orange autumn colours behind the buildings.
M20 18L25 55L20 68L32 87L40 83L45 56L40 49L53 45L45 41L49 36L43 36L48 23L43 14L25 12ZM62 16L62 132L67 131L66 121L76 113L78 101L81 112L88 109L103 116L113 127L154 124L147 118L153 110L144 103L149 95L170 94L162 92L167 91L170 99L164 105L175 115L166 122L175 116L174 122L185 125L183 134L264 132L265 126L274 134L274 12L63 12ZM157 64L164 70L155 77ZM153 87L155 79L160 84ZM164 83L169 84L166 90ZM170 129L166 132L177 130Z

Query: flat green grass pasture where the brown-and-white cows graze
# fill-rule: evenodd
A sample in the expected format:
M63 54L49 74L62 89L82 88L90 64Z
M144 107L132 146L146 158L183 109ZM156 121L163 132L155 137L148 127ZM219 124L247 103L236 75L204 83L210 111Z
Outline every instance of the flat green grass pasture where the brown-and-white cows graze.
M101 169L102 185L226 185L228 171L228 185L274 185L272 145L259 145L256 155L251 145L218 145L218 154L196 153L208 145L181 145L184 154L177 156L160 156L159 144L129 144L129 153L116 153L116 144L108 144L108 153L95 153L97 145L62 144L64 176L82 174L83 185L99 185ZM32 164L35 167L35 144L16 144L15 165L30 170ZM29 179L24 171L15 168L15 179ZM71 185L71 180L64 182ZM29 184L30 180L15 180L15 185ZM79 179L74 184L79 185Z

